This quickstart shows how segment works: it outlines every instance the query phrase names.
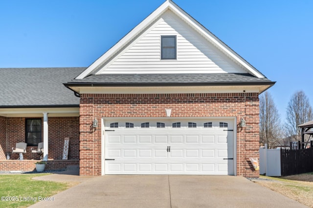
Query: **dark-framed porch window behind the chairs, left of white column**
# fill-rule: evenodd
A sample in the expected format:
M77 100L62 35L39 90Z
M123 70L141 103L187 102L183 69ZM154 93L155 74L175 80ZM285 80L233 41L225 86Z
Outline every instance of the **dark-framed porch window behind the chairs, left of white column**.
M25 119L25 142L27 146L38 146L42 141L41 118Z

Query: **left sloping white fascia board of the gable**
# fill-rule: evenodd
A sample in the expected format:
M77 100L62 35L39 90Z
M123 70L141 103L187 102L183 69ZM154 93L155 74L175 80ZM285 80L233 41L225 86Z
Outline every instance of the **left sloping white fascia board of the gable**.
M146 19L140 22L133 30L131 30L124 38L120 39L112 48L110 48L105 54L99 57L93 62L84 72L78 75L75 79L83 79L89 75L94 69L104 63L112 55L120 51L126 44L128 44L134 37L136 37L142 30L148 27L156 18L162 15L170 6L169 0L165 1L159 6L153 13L151 13Z

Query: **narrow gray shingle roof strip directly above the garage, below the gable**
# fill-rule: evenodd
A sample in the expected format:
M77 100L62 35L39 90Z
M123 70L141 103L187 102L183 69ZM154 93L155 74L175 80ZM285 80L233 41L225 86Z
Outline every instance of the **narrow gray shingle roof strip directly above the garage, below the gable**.
M83 79L73 79L67 86L152 86L152 85L238 85L274 84L268 78L258 78L250 74L121 74L90 75Z

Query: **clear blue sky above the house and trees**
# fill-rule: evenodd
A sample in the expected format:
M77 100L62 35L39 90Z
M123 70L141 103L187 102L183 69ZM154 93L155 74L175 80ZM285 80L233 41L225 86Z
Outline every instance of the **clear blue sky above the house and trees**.
M0 67L87 67L164 0L0 0ZM277 83L285 119L291 95L313 106L312 0L174 0Z

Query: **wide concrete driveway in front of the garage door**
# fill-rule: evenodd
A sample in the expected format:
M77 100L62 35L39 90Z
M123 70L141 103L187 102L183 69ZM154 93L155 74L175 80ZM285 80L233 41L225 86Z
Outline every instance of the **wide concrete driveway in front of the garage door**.
M240 176L106 175L31 208L305 208Z

